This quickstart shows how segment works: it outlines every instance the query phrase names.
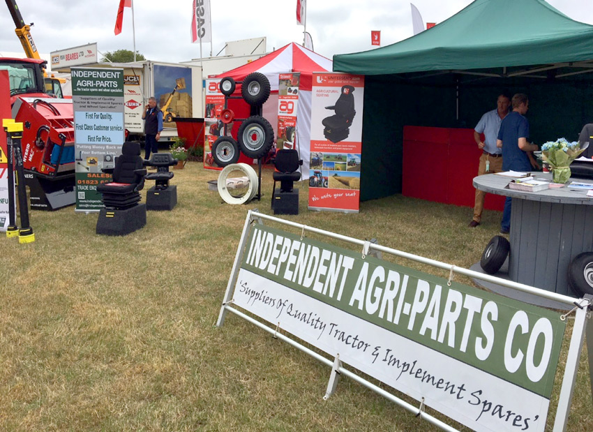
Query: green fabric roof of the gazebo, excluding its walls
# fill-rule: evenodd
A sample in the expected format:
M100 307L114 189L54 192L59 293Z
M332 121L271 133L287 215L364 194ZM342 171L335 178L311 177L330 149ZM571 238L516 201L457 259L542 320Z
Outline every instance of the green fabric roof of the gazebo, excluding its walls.
M546 1L476 0L412 38L376 50L336 55L333 70L383 75L591 59L593 26L571 20Z

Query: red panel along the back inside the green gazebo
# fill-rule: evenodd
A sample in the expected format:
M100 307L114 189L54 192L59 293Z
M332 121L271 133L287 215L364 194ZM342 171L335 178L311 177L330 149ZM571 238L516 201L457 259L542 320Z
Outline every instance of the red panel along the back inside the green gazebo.
M403 195L474 207L480 154L473 129L404 126ZM503 206L504 197L486 195L486 209Z

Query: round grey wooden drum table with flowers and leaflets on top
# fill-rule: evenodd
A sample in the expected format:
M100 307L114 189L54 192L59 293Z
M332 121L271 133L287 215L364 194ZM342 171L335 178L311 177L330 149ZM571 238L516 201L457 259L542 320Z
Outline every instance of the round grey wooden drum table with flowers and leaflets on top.
M552 180L550 173L536 179ZM569 287L569 265L576 255L593 251L593 198L569 186L539 192L505 188L509 177L474 177L474 187L513 198L509 243L509 278L559 294L576 297ZM593 183L571 179L571 181Z

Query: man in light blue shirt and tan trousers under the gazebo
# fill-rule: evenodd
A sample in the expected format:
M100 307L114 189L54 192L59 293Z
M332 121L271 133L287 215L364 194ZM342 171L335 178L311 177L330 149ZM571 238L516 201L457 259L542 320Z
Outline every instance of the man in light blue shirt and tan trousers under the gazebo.
M509 114L510 106L511 98L506 94L500 94L496 100L496 110L486 112L474 128L474 140L482 151L478 175L502 171L502 149L496 147L496 140L502 119L506 117L506 114ZM480 136L481 133L484 134L483 142ZM470 228L476 228L476 226L480 225L485 196L486 192L476 189L474 218L470 222Z

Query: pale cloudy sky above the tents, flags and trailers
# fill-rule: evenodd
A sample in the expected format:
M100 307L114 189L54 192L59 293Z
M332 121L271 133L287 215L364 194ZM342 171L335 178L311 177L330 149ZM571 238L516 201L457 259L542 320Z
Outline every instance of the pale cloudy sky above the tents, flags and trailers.
M516 0L518 1L518 0ZM316 52L333 54L370 50L370 31L380 30L382 45L412 36L410 1L308 0L307 31ZM471 0L413 0L424 22L442 22ZM549 0L574 20L593 24L593 1ZM34 22L31 35L39 52L98 43L100 52L133 48L132 13L126 8L123 31L114 36L119 0L17 0L24 21ZM0 13L0 53L22 52L6 6ZM156 61L200 57L200 45L190 43L192 0L134 0L136 50ZM213 0L212 51L227 40L267 36L267 50L292 41L302 43L296 25L296 0ZM529 19L529 17L526 17ZM204 46L204 57L210 46ZM224 54L224 52L223 52Z

